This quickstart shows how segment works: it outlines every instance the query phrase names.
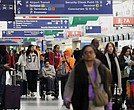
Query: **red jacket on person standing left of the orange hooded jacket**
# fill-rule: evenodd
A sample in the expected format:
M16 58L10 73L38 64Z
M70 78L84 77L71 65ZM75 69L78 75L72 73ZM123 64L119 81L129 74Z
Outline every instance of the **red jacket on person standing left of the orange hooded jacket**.
M51 65L54 65L54 68L57 69L57 66L59 65L60 62L60 53L57 52L49 52L48 55L48 61Z

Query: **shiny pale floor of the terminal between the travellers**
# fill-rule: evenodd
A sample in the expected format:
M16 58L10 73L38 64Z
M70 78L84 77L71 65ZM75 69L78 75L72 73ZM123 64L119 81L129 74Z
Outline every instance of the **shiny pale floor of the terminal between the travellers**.
M7 75L7 84L10 83L11 83L10 76ZM37 91L38 92L35 94L36 98L31 98L30 96L29 97L23 96L21 98L20 110L67 110L65 107L62 106L63 102L61 99L61 94L59 94L58 100L52 100L54 97L51 96L48 96L48 100L41 100L39 96L39 86Z

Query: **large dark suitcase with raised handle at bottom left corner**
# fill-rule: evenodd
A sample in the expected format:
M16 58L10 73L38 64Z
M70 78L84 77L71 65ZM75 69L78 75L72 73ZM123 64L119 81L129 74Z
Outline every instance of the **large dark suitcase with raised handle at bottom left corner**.
M12 71L12 85L5 88L4 109L20 109L20 86L16 85L16 71Z

